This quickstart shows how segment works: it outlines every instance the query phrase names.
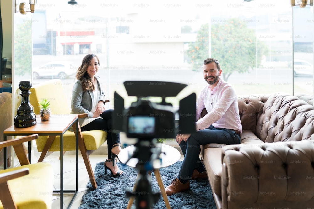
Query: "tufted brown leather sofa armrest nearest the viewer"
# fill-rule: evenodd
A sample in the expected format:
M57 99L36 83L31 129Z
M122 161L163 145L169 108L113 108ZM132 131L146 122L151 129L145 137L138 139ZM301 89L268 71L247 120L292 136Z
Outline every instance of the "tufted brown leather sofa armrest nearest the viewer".
M314 141L227 145L222 163L223 208L313 198Z

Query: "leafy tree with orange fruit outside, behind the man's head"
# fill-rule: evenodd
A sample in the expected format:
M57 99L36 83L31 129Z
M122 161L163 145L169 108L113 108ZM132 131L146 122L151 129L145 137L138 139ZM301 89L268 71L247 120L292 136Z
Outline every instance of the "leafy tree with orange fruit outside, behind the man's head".
M203 24L196 41L189 44L187 56L192 70L200 70L209 54L220 62L225 81L233 72L244 73L260 66L262 56L266 55L268 48L256 38L254 30L248 28L245 22L231 18L223 23L212 24L210 36L208 25Z

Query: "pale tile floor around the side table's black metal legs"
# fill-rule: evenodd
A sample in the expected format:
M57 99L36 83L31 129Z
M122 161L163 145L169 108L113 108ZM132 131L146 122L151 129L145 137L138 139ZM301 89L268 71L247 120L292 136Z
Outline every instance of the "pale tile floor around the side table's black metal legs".
M176 143L176 142L175 142ZM173 143L170 143L173 144ZM57 152L55 152L57 153ZM39 158L39 155L35 154L32 162L37 162ZM92 168L95 168L96 163L105 161L107 158L106 155L99 155L99 154L91 154L89 156L89 160L91 163ZM183 160L183 155L181 155L181 159ZM51 163L54 168L54 189L59 190L60 189L60 160L59 155L49 155L45 158L44 162ZM63 158L63 178L64 178L64 189L68 190L75 190L75 155L64 155ZM87 174L85 164L83 161L82 156L78 156L78 194L75 197L71 209L78 208L81 204L81 198L84 195L86 191L86 185L89 182L89 176ZM65 193L63 197L64 206L63 208L67 208L70 201L72 200L73 193ZM58 209L60 208L60 195L59 194L53 194L53 201L52 201L52 209Z

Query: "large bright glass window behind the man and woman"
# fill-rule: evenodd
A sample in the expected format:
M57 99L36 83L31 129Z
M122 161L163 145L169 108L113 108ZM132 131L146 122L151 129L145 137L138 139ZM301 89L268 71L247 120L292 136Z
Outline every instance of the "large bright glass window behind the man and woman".
M70 72L84 55L95 53L111 101L114 91L127 97L123 82L128 80L186 83L183 97L198 94L206 85L201 67L211 56L220 61L223 79L238 95L313 94L313 76L294 77L303 67L313 73L313 40L294 39L292 21L306 11L309 22L300 31L311 27L306 36L313 37L312 9L298 8L300 14L295 10L293 16L286 0L78 0L73 6L63 0L39 1L32 19L33 82L61 78L70 98L75 80ZM293 46L299 50L294 54ZM295 60L294 71L293 56L302 63L299 66ZM65 62L64 70L45 67ZM40 70L46 72L40 74Z

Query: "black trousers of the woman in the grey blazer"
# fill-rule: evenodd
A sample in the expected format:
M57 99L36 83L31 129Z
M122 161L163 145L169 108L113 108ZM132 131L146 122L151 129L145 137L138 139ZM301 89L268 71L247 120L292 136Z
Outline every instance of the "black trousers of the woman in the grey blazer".
M112 115L113 110L106 110L100 116L102 119L96 119L81 127L82 131L102 130L108 133L108 159L111 159L111 149L114 144L120 143L120 133L112 132Z

